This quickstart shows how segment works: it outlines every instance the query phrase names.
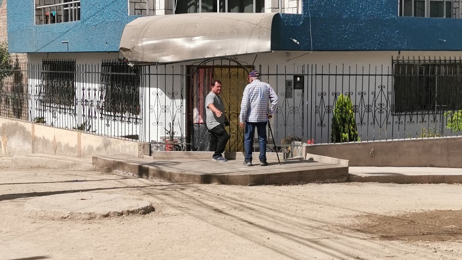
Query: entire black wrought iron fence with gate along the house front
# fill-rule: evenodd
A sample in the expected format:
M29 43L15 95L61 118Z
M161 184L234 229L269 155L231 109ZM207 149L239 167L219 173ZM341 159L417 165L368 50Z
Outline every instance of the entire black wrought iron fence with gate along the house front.
M129 67L117 61L44 60L0 71L0 116L150 142L155 150L201 150L206 147L196 146L206 135L195 110L200 112L209 78L221 77L228 88L223 92L229 95L227 116L236 121L245 86L241 78L257 68L279 97L270 122L275 140L268 139L268 150L286 157L298 156L303 143L333 142L333 132L346 136L340 141L356 142L457 136L462 62L401 59L391 64L252 67L215 59L191 66ZM240 151L242 132L234 121L227 130L236 138L227 149Z

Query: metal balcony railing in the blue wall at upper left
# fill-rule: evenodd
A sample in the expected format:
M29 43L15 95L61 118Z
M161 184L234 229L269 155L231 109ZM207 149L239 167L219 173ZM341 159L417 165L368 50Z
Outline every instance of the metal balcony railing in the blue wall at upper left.
M80 0L56 0L53 5L35 8L35 24L59 24L80 20Z

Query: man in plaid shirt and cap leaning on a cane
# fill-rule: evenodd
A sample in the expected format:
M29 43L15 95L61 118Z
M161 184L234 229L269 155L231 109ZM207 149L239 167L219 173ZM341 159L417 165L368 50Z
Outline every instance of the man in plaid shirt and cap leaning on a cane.
M279 99L273 88L260 81L260 72L252 70L248 75L248 85L244 89L241 102L239 126L244 129L244 165L252 166L252 147L257 129L260 147L260 165L266 166L266 124L276 113ZM271 102L271 107L269 107Z

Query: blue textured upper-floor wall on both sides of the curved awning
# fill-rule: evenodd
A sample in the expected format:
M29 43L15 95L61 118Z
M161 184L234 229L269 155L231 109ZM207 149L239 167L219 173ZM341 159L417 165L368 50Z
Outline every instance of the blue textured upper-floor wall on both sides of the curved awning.
M137 17L128 16L127 2L86 0L81 21L34 25L33 0L10 1L9 50L118 51L124 26ZM462 19L398 17L398 0L303 0L303 14L275 16L272 49L311 50L313 43L315 51L462 50L461 29Z

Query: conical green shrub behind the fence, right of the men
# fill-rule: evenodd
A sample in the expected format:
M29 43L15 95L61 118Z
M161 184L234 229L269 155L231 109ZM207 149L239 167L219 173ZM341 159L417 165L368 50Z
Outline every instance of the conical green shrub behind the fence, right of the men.
M332 118L331 141L333 143L360 141L356 130L355 113L349 96L340 95Z

